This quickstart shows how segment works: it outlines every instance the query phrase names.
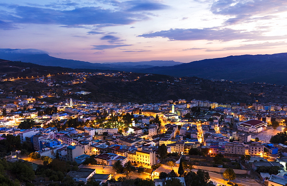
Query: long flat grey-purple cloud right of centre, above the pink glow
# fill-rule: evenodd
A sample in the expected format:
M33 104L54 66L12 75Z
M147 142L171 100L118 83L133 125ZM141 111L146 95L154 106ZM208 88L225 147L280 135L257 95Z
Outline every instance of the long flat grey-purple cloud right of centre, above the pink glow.
M170 29L162 30L159 32L153 32L148 34L142 34L138 37L144 38L155 38L163 37L170 40L218 40L218 41L232 41L232 40L274 40L274 39L284 39L285 36L263 36L262 34L266 31L256 30L256 31L246 31L246 30L233 30L231 28L190 28L190 29Z

